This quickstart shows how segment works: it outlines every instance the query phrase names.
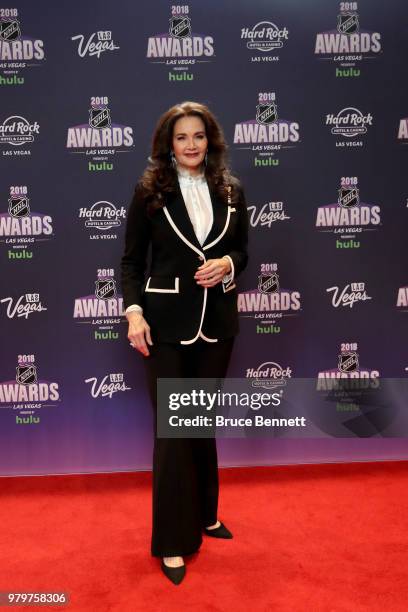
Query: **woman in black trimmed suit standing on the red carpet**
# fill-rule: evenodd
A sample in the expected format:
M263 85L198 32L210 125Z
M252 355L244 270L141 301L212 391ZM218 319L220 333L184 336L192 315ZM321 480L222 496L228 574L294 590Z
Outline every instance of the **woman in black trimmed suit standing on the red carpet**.
M155 414L151 552L175 584L202 532L232 538L217 517L215 439L158 438L156 419L157 378L225 377L238 333L235 279L248 260L248 215L225 157L222 130L203 104L183 102L160 117L121 264L128 338L145 357Z

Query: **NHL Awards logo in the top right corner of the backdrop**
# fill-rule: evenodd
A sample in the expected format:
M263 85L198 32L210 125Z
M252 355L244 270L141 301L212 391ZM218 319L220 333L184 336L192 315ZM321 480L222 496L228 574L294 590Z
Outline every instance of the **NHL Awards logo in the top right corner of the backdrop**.
M316 35L315 55L319 59L332 59L336 77L359 77L361 69L356 65L364 59L372 59L381 52L381 34L360 29L357 2L340 2L335 30Z

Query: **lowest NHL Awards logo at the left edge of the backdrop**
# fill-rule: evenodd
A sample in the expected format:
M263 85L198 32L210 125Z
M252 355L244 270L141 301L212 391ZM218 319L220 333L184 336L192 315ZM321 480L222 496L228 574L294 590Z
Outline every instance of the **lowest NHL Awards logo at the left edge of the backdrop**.
M35 416L39 408L55 407L60 401L59 384L41 380L34 355L19 355L15 368L15 380L0 383L2 408L18 411L16 425L32 425L40 422Z

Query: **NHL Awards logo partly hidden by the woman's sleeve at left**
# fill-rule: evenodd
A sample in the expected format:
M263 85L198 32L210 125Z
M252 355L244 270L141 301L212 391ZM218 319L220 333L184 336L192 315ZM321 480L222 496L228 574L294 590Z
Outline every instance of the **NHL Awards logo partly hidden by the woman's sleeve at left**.
M76 298L74 319L96 326L95 340L117 340L119 325L124 317L123 298L116 290L112 268L99 269L93 295Z

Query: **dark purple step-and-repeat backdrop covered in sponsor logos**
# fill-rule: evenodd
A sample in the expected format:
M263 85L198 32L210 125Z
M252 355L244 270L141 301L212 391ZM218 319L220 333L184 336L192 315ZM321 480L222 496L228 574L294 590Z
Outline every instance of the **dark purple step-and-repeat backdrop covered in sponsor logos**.
M405 0L3 4L1 474L150 469L119 266L184 100L220 120L247 198L229 376L408 376L407 20ZM313 436L219 440L220 464L406 459L404 408L306 406Z

